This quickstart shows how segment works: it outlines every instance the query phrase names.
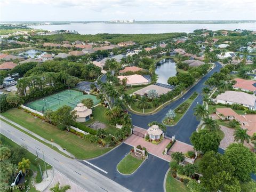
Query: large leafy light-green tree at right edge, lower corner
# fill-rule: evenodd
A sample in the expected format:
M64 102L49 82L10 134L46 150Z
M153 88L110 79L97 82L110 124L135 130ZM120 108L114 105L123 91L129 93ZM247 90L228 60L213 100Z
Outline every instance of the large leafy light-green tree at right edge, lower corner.
M235 167L234 175L241 181L250 181L251 173L256 172L256 155L242 143L232 143L224 154Z

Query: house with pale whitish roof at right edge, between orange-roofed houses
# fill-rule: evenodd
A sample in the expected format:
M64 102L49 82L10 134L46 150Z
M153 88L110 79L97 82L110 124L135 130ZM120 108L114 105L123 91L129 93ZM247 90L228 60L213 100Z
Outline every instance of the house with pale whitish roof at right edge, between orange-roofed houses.
M240 91L226 91L225 93L221 93L214 99L214 102L229 105L238 104L251 110L256 110L255 95Z

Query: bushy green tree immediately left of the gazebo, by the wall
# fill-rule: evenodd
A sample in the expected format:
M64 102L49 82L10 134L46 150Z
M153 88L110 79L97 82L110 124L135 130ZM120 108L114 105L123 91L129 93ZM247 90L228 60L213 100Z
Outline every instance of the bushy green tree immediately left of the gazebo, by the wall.
M63 125L69 131L69 126L76 120L76 111L72 110L70 106L62 106L51 115L53 122Z

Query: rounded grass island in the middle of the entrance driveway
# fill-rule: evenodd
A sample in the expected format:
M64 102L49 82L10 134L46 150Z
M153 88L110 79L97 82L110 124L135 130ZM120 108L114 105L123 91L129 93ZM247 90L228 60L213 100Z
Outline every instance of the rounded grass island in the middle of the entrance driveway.
M142 159L135 158L129 154L126 155L126 157L124 157L122 161L118 163L117 169L120 173L131 174L138 169L142 162Z

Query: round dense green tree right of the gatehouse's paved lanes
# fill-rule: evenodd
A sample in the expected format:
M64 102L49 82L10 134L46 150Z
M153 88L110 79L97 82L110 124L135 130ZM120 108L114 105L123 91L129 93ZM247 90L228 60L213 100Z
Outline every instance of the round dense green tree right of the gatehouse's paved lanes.
M202 153L207 151L218 151L221 138L217 132L211 132L207 129L193 132L190 141L194 148Z

